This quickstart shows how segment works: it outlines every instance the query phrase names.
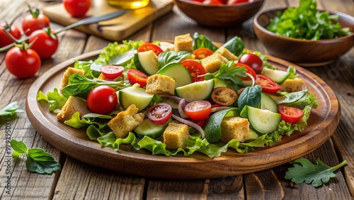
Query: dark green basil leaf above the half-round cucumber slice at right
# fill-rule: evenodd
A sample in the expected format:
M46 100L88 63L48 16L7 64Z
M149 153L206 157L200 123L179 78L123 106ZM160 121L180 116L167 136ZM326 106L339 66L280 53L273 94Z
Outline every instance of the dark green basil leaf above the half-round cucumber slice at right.
M262 88L259 85L254 87L246 87L244 91L241 92L239 99L237 100L239 109L242 111L244 106L258 108L261 103L261 94Z

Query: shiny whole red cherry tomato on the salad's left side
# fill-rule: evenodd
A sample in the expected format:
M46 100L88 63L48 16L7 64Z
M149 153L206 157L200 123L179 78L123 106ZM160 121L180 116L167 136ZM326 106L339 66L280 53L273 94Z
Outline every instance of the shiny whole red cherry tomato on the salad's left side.
M90 111L105 115L117 107L118 96L113 87L100 85L90 91L86 101Z

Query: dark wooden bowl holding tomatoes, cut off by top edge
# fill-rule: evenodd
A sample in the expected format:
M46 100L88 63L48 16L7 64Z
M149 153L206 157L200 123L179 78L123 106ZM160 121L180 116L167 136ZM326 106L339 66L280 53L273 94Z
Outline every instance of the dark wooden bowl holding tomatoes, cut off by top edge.
M236 26L247 21L261 9L263 0L233 6L204 5L189 0L175 0L175 4L186 16L193 19L198 24L220 28Z

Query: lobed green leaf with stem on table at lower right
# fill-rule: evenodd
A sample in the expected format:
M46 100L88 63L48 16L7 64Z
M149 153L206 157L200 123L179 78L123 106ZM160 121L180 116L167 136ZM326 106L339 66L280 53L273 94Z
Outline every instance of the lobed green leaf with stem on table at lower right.
M306 158L300 157L299 159L290 162L294 167L287 169L285 179L291 179L295 184L305 182L307 184L312 183L314 187L320 187L322 184L329 182L330 178L336 177L336 174L333 172L347 163L348 162L344 160L336 166L329 167L319 160L319 158L316 160L317 165L314 165Z

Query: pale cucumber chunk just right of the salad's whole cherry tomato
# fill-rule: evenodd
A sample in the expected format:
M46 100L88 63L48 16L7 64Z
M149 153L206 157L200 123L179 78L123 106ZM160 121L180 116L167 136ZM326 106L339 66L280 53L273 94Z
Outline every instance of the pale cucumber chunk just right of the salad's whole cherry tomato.
M135 104L139 111L149 106L154 94L147 94L142 87L126 87L117 91L118 101L123 109L127 109L130 105Z

